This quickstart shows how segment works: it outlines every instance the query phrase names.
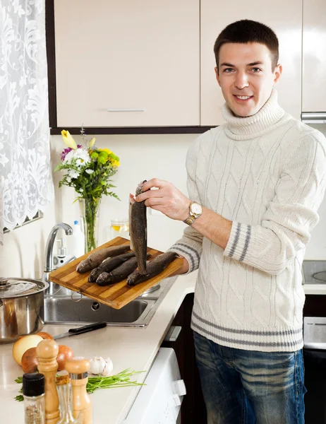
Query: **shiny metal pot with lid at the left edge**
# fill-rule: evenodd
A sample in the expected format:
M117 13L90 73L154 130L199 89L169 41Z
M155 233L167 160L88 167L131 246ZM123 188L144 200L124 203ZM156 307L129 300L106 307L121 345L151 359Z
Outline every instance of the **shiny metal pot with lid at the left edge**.
M49 284L30 278L0 278L0 343L35 334L44 326L44 290Z

